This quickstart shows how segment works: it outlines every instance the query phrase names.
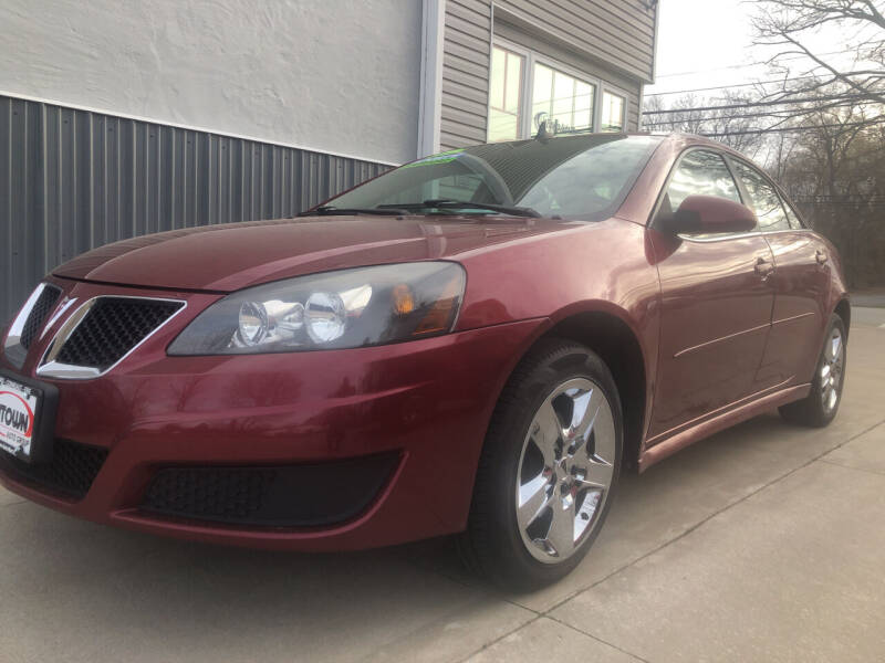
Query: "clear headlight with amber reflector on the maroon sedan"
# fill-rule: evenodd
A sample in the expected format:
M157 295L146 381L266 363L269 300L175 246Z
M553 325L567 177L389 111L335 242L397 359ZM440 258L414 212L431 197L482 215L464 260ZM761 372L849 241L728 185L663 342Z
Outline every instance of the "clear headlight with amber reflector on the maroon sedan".
M416 262L299 276L243 290L198 315L169 355L358 348L447 334L464 267Z

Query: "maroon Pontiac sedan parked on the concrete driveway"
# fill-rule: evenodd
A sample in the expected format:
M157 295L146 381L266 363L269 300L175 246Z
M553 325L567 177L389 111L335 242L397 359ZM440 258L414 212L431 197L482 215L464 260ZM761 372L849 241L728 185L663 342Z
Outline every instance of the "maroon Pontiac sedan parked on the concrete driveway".
M451 150L299 219L54 270L2 337L0 481L226 544L462 533L468 562L538 585L622 467L773 407L829 423L850 313L833 246L720 145Z

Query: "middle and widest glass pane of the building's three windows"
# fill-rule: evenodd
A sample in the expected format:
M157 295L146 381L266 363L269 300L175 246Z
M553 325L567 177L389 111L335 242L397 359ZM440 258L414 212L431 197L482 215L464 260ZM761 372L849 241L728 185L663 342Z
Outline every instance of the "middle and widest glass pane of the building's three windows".
M544 119L558 133L593 129L593 97L596 86L540 63L534 64L532 118L535 127Z

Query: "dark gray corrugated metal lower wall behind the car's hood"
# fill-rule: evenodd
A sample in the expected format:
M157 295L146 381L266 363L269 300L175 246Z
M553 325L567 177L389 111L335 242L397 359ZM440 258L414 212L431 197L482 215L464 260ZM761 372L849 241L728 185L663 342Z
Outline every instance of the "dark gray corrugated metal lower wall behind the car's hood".
M387 169L0 96L0 325L45 273L84 251L290 217Z

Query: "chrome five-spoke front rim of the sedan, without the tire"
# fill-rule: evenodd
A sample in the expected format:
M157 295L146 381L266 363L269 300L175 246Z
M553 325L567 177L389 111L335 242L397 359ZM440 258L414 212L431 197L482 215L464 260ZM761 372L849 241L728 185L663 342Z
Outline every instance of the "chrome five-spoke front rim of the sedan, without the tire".
M617 445L608 399L595 382L556 387L534 413L519 460L517 523L532 557L571 557L603 512Z

